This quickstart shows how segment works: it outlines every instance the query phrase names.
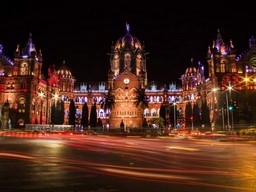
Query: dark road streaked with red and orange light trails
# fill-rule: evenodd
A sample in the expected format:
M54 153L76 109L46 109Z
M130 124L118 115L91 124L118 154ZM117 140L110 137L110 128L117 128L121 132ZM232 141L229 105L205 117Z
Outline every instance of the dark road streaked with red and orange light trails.
M255 141L0 137L1 192L255 192Z

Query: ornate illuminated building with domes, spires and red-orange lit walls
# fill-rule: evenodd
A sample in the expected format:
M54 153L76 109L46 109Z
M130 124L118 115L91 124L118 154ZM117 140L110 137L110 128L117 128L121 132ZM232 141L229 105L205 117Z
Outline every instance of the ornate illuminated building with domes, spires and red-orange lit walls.
M119 128L121 122L124 129L141 128L145 120L152 126L159 119L162 107L165 109L164 128L173 128L177 124L200 128L195 121L203 118L204 104L209 108L212 128L234 129L235 126L254 123L256 40L253 37L249 49L236 55L233 42L225 44L218 31L217 39L207 52L208 77L204 64L198 62L195 65L191 59L191 67L181 75L181 88L175 83L163 85L149 80L147 54L144 44L131 35L130 26L126 24L126 34L112 45L109 53L108 79L85 83L76 82L65 61L59 69L49 67L45 78L43 56L40 50L36 50L31 34L23 49L17 46L13 61L4 55L1 46L1 109L9 104L8 123L6 114L1 113L2 129L24 128L25 124L51 124L52 106L61 101L64 103L64 124L68 124L70 100L75 102L78 128L81 127L85 103L89 111L96 104L97 118L102 120L103 126L109 125L110 128ZM229 86L232 89L228 90ZM139 102L140 96L148 105ZM114 104L104 108L102 104L108 97L113 97ZM189 115L186 114L188 104L192 106Z

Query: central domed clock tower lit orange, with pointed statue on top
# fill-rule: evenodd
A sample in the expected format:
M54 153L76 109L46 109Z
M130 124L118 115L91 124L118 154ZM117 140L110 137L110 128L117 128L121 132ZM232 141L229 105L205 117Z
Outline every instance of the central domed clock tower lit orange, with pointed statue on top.
M146 53L140 41L130 34L126 24L126 35L112 46L108 89L114 95L114 107L110 113L110 127L124 129L141 128L143 106L139 105L139 92L147 85Z

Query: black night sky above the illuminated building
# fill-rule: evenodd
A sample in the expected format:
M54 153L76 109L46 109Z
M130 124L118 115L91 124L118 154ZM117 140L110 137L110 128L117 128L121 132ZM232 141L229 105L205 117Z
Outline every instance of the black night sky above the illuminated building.
M112 42L126 34L145 44L149 80L178 82L185 69L198 61L206 65L208 46L220 29L225 43L232 39L238 53L256 35L256 17L250 5L207 5L154 1L17 1L2 5L0 43L13 59L16 45L32 33L42 50L44 69L63 60L79 82L105 81ZM72 3L72 4L71 4ZM8 5L9 4L9 5Z

